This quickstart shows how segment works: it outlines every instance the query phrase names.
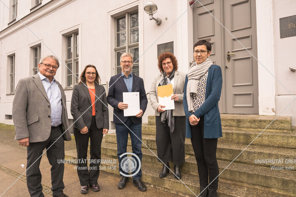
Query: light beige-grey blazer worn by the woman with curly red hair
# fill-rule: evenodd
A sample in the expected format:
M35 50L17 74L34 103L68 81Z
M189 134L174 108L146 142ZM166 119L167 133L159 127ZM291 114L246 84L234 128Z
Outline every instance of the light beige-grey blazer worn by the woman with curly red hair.
M150 104L152 108L155 110L155 115L159 116L159 112L157 112L157 108L159 106L157 101L157 86L160 80L163 78L163 73L160 73L154 77L154 81L152 82L151 89L149 91ZM184 83L185 83L185 74L182 72L175 72L174 76L174 85L173 92L179 96L179 100L175 101L175 109L173 109L173 116L184 116L183 109L183 91L184 91Z

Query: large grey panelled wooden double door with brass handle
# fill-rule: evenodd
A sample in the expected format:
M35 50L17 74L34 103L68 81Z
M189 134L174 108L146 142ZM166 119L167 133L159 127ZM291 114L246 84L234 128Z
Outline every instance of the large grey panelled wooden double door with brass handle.
M241 42L257 58L255 0L199 1L234 35L225 30L200 3L193 5L194 42L210 38L210 59L222 69L220 112L258 114L258 64L239 44ZM227 53L234 53L229 55L229 62Z

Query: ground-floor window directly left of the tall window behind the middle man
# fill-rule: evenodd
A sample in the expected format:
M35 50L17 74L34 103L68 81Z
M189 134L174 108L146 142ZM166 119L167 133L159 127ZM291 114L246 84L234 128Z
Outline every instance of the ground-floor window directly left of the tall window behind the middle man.
M78 83L78 32L66 36L66 87Z

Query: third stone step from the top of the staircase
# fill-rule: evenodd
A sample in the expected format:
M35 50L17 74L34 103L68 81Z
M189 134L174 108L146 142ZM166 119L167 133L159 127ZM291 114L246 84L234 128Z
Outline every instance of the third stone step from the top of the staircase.
M107 143L116 144L116 133L106 134L105 141ZM142 135L142 148L156 150L156 141L155 136L151 135ZM146 144L146 145L144 145ZM130 137L128 137L128 146L131 146ZM232 161L236 158L247 145L245 144L232 144L232 143L221 143L218 142L217 146L217 158L226 161ZM194 155L192 144L190 139L185 139L185 154ZM293 166L293 164L286 164L285 161L289 162L288 159L295 161L296 151L295 149L286 149L286 148L275 148L275 147L264 147L264 146L255 146L250 145L242 154L235 159L235 162L246 163L250 165L260 165L260 166L277 166L285 167L287 165ZM281 163L262 163L266 159L283 159ZM258 160L260 162L258 162ZM271 161L272 162L272 161ZM294 167L296 170L296 165Z

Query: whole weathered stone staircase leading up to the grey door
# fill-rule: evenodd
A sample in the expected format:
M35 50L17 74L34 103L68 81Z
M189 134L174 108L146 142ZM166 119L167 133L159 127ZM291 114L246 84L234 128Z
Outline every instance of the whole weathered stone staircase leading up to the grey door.
M221 114L223 137L218 139L217 159L220 172L236 158L275 116ZM190 139L185 140L185 160L181 165L182 181L172 173L159 178L162 163L157 161L155 116L142 124L142 181L147 185L182 196L199 195L197 164ZM145 144L145 145L144 145ZM147 149L152 150L152 152ZM116 134L106 134L102 142L102 159L117 159ZM128 139L128 152L131 140ZM76 155L67 156L75 158ZM283 163L266 163L265 159L283 159ZM287 159L287 160L286 160ZM285 163L285 161L294 163ZM117 160L118 161L118 160ZM291 118L281 116L252 142L219 177L218 196L296 196L296 132ZM101 163L102 170L118 174L114 164ZM272 170L271 166L291 166L294 170ZM170 162L171 170L173 163Z

